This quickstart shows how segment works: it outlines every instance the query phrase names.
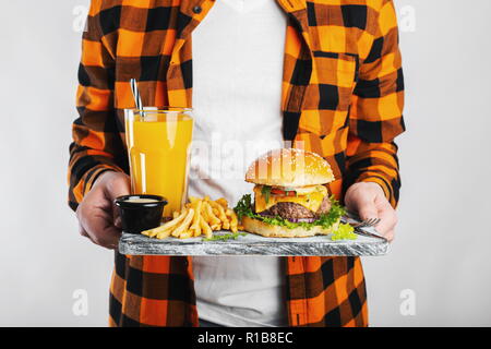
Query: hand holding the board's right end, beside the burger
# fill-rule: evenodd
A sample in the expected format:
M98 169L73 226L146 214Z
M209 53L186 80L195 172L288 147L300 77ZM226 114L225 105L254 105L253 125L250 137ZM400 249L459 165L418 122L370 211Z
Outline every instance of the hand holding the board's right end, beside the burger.
M357 212L361 219L380 218L376 230L388 241L394 240L397 215L382 186L373 182L355 183L346 192L345 205L349 210Z

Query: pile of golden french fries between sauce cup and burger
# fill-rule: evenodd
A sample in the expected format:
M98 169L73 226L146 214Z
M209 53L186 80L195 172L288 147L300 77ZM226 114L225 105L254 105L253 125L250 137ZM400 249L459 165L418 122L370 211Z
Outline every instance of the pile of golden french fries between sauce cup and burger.
M213 231L224 229L237 232L240 228L237 214L228 207L224 197L213 201L209 196L190 196L182 210L172 213L171 220L160 227L142 231L142 234L156 239L188 239L200 236L209 239Z

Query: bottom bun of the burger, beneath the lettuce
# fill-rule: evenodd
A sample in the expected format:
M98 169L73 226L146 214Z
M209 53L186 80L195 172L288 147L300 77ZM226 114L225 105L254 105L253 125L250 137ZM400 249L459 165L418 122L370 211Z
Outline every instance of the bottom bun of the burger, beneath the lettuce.
M242 226L246 231L253 232L266 238L307 238L313 236L326 236L339 227L339 220L331 228L324 229L321 226L306 229L302 227L288 229L283 226L272 226L264 221L253 219L250 217L242 217Z

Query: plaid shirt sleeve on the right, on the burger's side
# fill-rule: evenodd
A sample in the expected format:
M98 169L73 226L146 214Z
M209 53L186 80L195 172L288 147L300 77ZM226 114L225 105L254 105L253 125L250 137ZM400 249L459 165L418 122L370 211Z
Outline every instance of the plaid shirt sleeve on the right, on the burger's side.
M400 178L394 139L405 130L404 77L397 19L391 0L384 1L372 25L376 35L366 57L360 57L351 101L346 183L375 182L396 206Z

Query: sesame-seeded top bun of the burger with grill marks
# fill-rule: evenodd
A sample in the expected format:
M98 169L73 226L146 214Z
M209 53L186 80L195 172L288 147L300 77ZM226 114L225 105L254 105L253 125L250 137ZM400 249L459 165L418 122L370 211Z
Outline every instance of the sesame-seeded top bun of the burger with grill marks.
M272 186L307 186L334 180L330 164L315 153L296 148L270 151L251 164L246 181Z

